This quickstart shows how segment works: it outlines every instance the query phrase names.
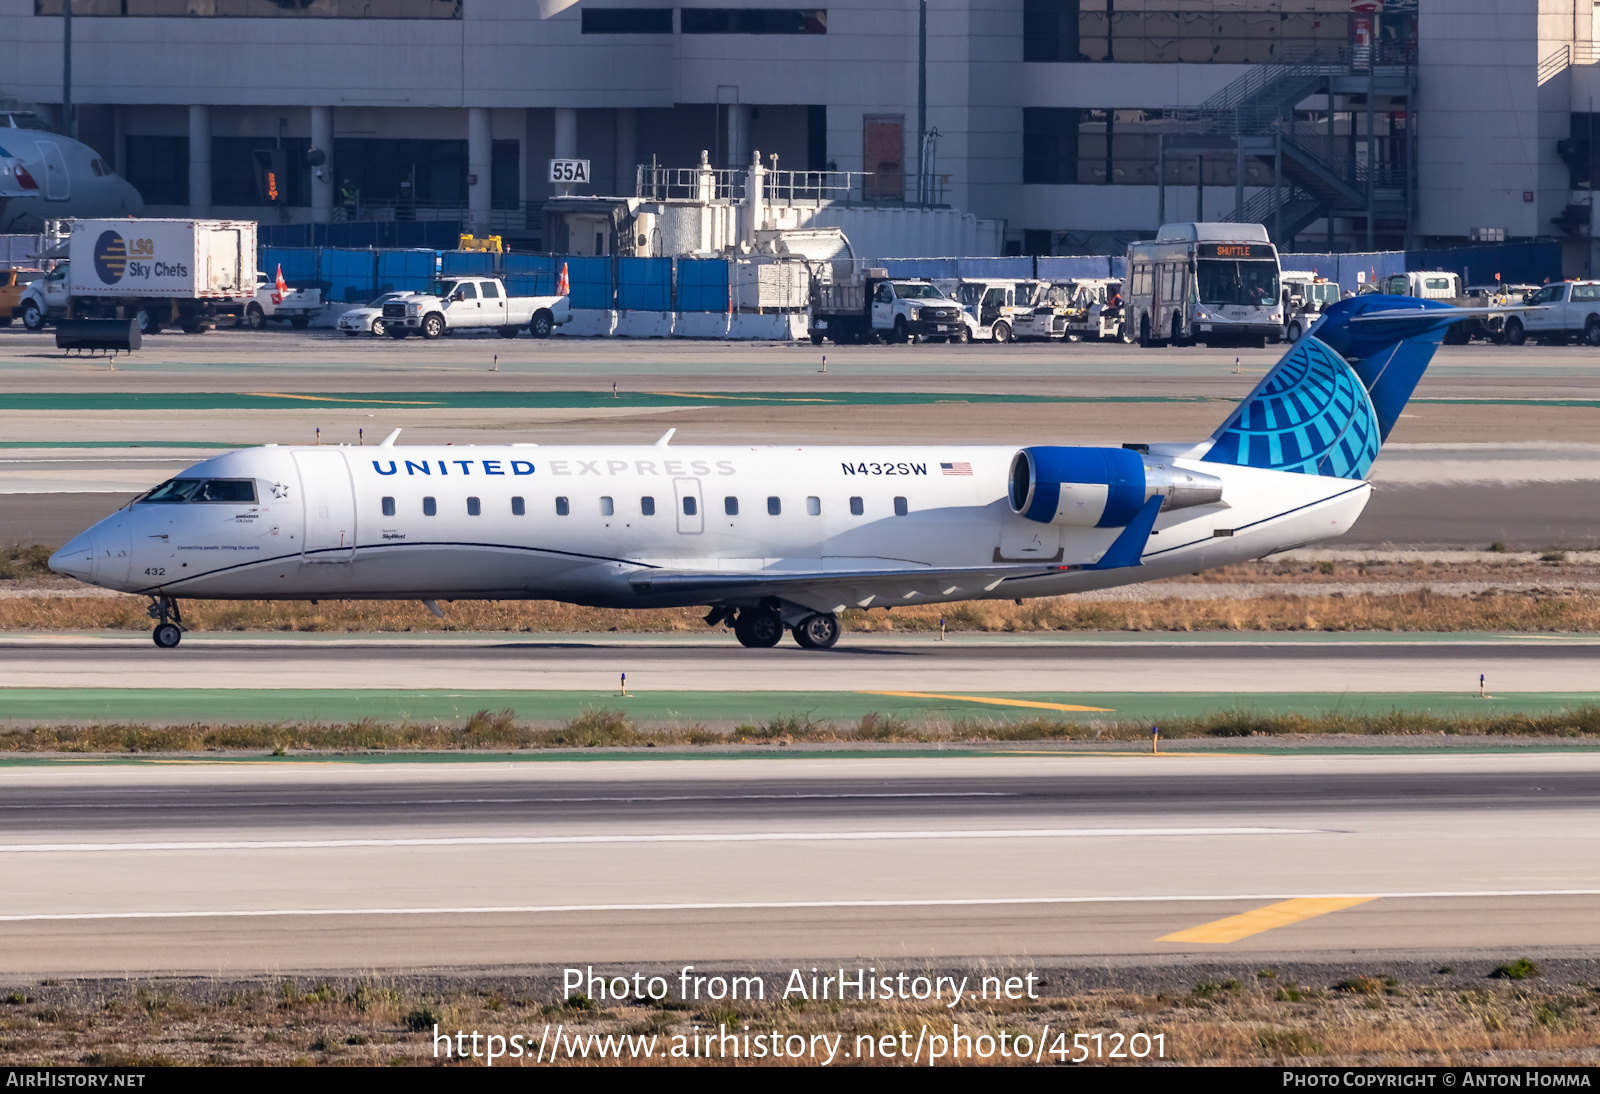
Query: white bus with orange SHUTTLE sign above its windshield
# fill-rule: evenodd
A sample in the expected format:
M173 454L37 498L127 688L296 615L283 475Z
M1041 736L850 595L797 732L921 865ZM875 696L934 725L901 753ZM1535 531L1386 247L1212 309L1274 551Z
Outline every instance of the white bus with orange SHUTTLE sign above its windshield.
M1278 342L1278 251L1261 224L1163 224L1128 245L1123 312L1141 345Z

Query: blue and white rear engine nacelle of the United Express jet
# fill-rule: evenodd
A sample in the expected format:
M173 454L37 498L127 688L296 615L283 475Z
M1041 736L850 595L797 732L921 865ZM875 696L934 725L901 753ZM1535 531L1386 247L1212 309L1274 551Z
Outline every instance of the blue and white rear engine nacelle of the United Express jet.
M1024 448L1011 461L1011 512L1040 525L1122 528L1150 497L1162 512L1222 501L1222 480L1130 448Z

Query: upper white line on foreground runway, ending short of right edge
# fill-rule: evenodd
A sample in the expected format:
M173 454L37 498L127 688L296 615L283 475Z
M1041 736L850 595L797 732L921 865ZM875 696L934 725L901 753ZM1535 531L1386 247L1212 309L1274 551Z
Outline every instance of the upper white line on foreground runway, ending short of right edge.
M416 836L394 840L174 840L152 843L10 843L0 854L120 851L299 851L315 848L494 848L594 843L779 843L858 840L1059 840L1107 836L1312 835L1318 828L950 828L886 832L686 832L554 836Z

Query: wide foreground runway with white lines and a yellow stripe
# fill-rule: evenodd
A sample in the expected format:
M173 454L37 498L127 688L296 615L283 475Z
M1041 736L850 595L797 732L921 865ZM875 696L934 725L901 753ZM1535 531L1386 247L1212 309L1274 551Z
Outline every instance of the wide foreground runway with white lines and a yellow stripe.
M5 766L0 972L1592 955L1597 793L1538 752Z

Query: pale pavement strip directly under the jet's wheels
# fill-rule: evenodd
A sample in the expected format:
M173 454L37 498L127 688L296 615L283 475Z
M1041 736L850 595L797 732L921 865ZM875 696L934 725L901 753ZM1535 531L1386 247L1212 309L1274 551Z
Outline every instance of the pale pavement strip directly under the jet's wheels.
M1600 638L1443 635L1320 640L1093 635L893 638L846 635L830 651L744 649L725 632L574 637L230 637L178 649L147 635L11 633L10 688L312 688L635 693L1590 693ZM1064 699L1062 702L1070 702Z

